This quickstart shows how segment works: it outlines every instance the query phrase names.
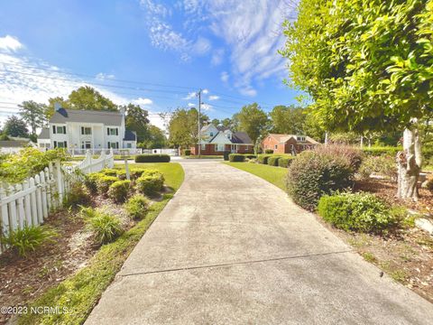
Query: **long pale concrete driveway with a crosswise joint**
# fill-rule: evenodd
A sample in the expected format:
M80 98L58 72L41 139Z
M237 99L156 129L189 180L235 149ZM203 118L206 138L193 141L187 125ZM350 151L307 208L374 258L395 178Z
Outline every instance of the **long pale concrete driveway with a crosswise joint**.
M431 324L393 282L267 181L217 162L186 177L87 324Z

